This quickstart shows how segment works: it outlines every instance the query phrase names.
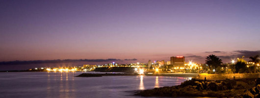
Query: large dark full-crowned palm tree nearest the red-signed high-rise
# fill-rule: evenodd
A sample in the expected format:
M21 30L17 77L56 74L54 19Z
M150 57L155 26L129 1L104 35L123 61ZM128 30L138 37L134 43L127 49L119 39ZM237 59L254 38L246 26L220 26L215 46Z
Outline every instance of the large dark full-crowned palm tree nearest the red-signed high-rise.
M217 57L216 55L211 54L206 57L206 64L208 64L208 67L211 70L217 69L218 67L221 66L222 60L219 57Z

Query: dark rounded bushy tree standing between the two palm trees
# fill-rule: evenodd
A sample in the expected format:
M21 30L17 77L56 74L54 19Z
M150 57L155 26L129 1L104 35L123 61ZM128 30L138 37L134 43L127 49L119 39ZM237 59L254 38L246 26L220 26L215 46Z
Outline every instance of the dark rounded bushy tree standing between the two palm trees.
M248 71L246 66L246 61L243 58L237 58L237 62L235 63L235 73L245 73Z

